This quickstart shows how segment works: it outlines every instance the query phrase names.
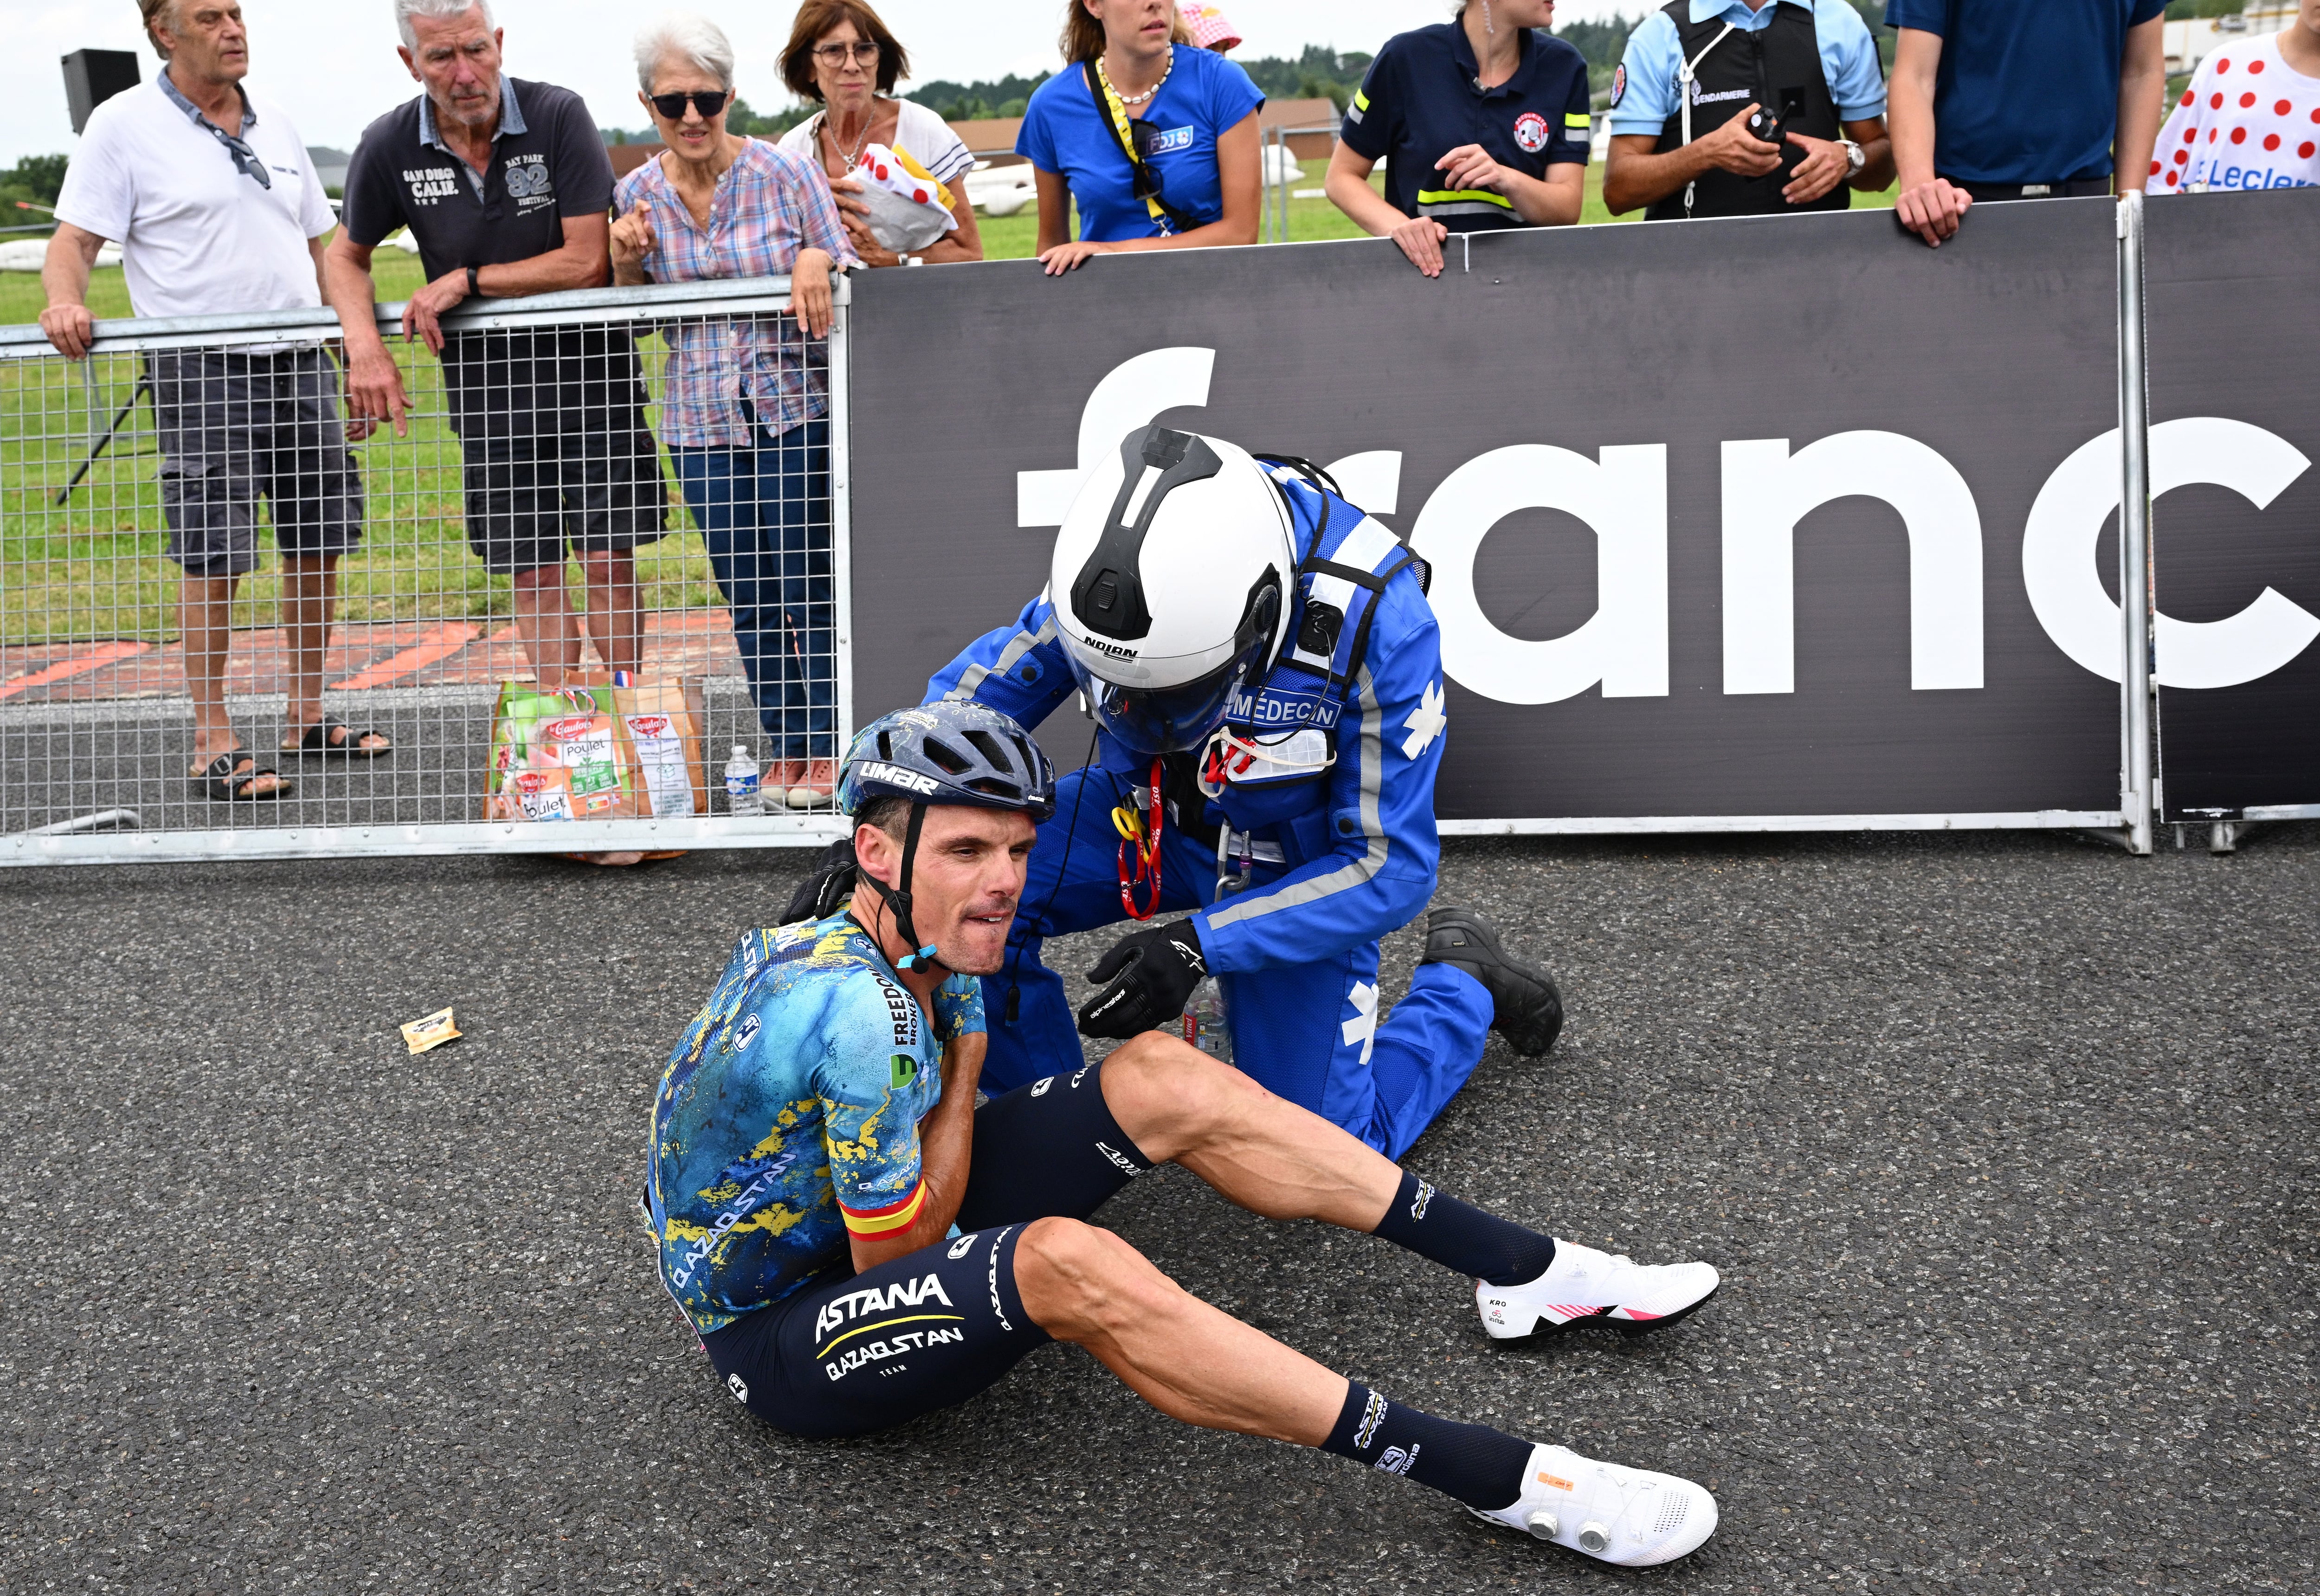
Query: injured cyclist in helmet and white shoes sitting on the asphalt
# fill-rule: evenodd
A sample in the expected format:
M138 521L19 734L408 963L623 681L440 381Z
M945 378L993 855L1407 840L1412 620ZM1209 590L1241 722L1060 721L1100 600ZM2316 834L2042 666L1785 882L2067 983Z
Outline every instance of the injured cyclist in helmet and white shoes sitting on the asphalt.
M858 886L752 930L668 1060L645 1211L661 1281L735 1401L798 1436L956 1406L1074 1341L1162 1413L1401 1473L1610 1564L1663 1564L1714 1499L1406 1408L1211 1308L1088 1225L1179 1162L1276 1220L1371 1232L1476 1278L1496 1339L1668 1325L1710 1264L1638 1267L1471 1209L1197 1049L1144 1032L974 1107L979 974L1007 956L1053 772L998 710L937 703L847 759Z

